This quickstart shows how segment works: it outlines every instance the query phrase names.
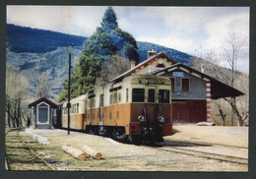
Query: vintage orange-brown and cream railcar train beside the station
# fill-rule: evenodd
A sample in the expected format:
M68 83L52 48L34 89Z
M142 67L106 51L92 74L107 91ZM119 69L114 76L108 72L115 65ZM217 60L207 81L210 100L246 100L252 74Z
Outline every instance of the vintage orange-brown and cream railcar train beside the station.
M133 143L161 142L171 135L170 80L133 75L71 100L70 128ZM67 128L67 102L62 126Z

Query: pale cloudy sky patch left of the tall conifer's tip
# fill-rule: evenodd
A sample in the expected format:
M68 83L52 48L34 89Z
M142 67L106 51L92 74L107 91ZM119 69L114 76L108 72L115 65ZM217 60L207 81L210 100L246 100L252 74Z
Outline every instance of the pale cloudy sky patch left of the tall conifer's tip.
M43 30L91 35L106 7L8 6L7 23Z

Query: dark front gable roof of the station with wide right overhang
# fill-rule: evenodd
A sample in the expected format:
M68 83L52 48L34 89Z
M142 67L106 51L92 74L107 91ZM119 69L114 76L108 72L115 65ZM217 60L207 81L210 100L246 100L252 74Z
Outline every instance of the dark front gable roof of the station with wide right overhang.
M195 70L195 69L188 67L186 65L183 65L181 63L176 63L170 67L164 68L159 71L152 72L151 75L163 75L164 73L172 72L176 69L188 72L192 75L196 74L196 76L198 78L201 78L206 81L207 80L211 81L211 95L212 95L211 97L213 99L218 99L218 98L222 98L222 97L239 96L239 95L244 94L243 92L241 92L238 89L234 89L209 75L206 75L202 72L199 72L198 70Z

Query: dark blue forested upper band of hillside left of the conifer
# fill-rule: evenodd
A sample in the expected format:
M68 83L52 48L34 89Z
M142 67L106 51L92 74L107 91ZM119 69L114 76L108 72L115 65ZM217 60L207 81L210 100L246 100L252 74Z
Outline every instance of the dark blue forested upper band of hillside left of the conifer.
M84 36L50 30L36 30L15 25L7 25L6 32L7 48L17 53L46 53L68 45L82 46L87 39Z

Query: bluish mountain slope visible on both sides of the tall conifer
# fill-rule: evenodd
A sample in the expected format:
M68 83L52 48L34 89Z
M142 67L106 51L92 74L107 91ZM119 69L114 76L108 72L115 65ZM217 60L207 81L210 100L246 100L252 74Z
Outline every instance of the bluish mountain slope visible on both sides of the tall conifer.
M76 65L87 37L69 35L50 30L34 30L15 25L7 25L6 60L21 70L32 90L42 72L49 75L51 97L57 98L64 79L68 78L68 53L66 47L74 45L72 66ZM176 62L187 63L193 58L189 54L149 42L137 42L140 62L147 59L147 51L163 52ZM32 91L31 91L32 94Z

